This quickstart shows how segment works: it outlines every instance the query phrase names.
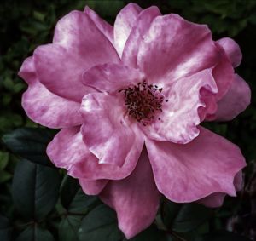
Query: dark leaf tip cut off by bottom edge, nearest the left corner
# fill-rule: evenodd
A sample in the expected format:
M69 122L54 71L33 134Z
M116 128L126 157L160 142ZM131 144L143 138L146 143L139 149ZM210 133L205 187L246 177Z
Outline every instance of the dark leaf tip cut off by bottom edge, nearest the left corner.
M38 225L27 227L15 241L55 241L52 234Z

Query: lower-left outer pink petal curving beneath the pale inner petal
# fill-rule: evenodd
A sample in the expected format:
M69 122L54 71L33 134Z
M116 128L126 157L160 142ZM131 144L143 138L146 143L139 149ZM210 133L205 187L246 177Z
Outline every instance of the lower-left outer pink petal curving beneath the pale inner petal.
M136 141L134 147L137 148ZM78 127L61 129L47 146L47 154L55 166L67 169L68 175L87 181L123 179L135 169L140 155L125 162L121 168L113 164L99 164L99 160L85 146ZM84 188L84 192L86 190Z

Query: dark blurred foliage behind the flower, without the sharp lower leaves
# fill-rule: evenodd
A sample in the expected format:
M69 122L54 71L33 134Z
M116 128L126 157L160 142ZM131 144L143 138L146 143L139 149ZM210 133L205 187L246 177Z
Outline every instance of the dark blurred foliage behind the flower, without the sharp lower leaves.
M115 15L125 4L131 1L72 1L72 0L1 0L0 1L0 136L21 127L38 127L32 123L20 106L20 98L26 90L26 83L17 76L22 61L40 44L50 43L54 27L61 16L73 9L84 9L85 5L95 9L109 23L113 24ZM224 206L214 210L214 215L207 222L205 232L228 230L240 233L256 240L256 1L255 0L159 0L132 1L147 8L157 5L163 14L177 13L183 18L207 24L212 30L213 39L232 37L240 45L243 54L241 66L236 68L252 89L252 104L238 118L229 123L206 123L207 128L241 147L247 158L244 169L244 189L238 198L225 198ZM51 135L49 135L51 136ZM46 144L45 144L46 145ZM10 151L3 141L0 143L0 240L15 240L24 221L17 212L12 195L12 179L15 167L20 162L20 155ZM19 153L18 153L19 154ZM21 155L22 156L22 155ZM61 173L61 178L65 175ZM61 218L53 218L58 213L58 206L45 217L43 227L50 230L55 240L73 240L61 238L58 225ZM195 214L196 215L196 214ZM51 219L54 221L51 222ZM26 220L26 219L25 219ZM20 226L21 223L21 226ZM28 223L28 224L27 224ZM23 225L23 226L22 226ZM14 235L12 239L4 236L2 229L8 229ZM1 231L2 230L2 231ZM21 231L20 231L21 230ZM4 234L3 234L4 235ZM44 236L44 235L43 235ZM174 235L175 236L175 235ZM48 236L47 236L48 237ZM65 236L67 238L67 235ZM186 239L173 240L195 240ZM192 236L191 236L192 237ZM9 238L9 239L7 239ZM58 239L59 238L59 239ZM17 239L18 240L18 239ZM29 240L29 239L19 239ZM54 239L32 239L54 240ZM84 239L85 240L85 239ZM106 239L107 240L107 239ZM137 239L144 240L144 239ZM145 239L149 240L149 239ZM151 239L150 239L151 240ZM154 239L152 239L154 240ZM160 240L160 239L155 239ZM163 239L167 240L167 239ZM172 239L168 239L172 240ZM196 239L197 240L197 239ZM210 239L207 239L210 240ZM211 239L211 240L246 240L246 239ZM98 241L105 241L104 239Z

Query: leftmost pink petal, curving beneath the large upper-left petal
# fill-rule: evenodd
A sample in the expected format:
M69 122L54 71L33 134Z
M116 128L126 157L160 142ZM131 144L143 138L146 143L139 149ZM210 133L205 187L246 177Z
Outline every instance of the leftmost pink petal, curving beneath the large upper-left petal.
M26 115L34 122L49 128L64 128L82 123L77 102L54 95L38 82L32 57L24 61L19 75L29 84L22 95L22 106Z

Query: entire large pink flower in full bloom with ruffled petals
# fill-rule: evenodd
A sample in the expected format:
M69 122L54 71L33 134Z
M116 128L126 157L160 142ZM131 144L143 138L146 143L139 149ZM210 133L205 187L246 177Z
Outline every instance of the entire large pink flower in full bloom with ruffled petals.
M20 69L22 106L34 122L61 129L52 162L116 210L131 238L156 215L160 193L210 207L241 189L239 148L204 129L250 101L234 73L241 51L212 41L207 26L128 4L114 26L86 7L55 27Z

